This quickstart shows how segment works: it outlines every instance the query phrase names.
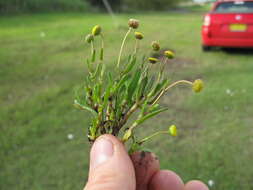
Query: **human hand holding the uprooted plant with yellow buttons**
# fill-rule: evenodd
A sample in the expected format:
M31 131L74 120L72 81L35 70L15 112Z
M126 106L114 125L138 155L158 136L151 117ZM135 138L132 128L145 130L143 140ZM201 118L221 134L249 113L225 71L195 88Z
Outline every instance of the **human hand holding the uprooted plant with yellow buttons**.
M200 181L183 184L172 171L160 170L148 152L129 157L124 145L112 135L99 137L90 152L90 170L84 190L208 190Z

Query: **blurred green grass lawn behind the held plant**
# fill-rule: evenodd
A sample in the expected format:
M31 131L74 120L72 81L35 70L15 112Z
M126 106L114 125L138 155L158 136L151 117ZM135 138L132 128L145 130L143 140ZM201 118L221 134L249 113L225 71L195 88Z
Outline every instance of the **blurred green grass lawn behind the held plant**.
M160 157L161 167L176 171L184 181L212 179L215 190L253 189L253 56L245 51L202 53L202 18L196 13L118 19L123 26L130 17L141 20L143 51L155 39L176 50L177 59L166 69L172 80L201 77L206 84L201 94L173 89L162 100L169 111L139 130L145 136L172 123L178 126L178 138L162 136L147 144ZM74 89L86 75L83 62L89 50L83 34L98 23L111 64L125 29L115 29L107 15L0 18L0 189L84 186L90 116L72 103ZM131 50L132 44L126 48ZM69 133L73 140L68 140Z

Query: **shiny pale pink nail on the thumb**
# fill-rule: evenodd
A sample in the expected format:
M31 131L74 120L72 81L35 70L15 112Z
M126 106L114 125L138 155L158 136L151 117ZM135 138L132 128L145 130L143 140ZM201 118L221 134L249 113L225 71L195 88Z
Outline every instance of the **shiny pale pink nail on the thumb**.
M106 162L112 157L113 152L113 143L108 139L99 138L91 149L90 167L93 169Z

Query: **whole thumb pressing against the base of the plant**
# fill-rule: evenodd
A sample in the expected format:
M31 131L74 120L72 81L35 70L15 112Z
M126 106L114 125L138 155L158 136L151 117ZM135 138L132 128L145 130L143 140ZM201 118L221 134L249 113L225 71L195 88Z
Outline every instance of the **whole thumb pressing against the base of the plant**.
M89 179L84 190L134 190L135 173L124 145L112 135L102 135L90 152Z

